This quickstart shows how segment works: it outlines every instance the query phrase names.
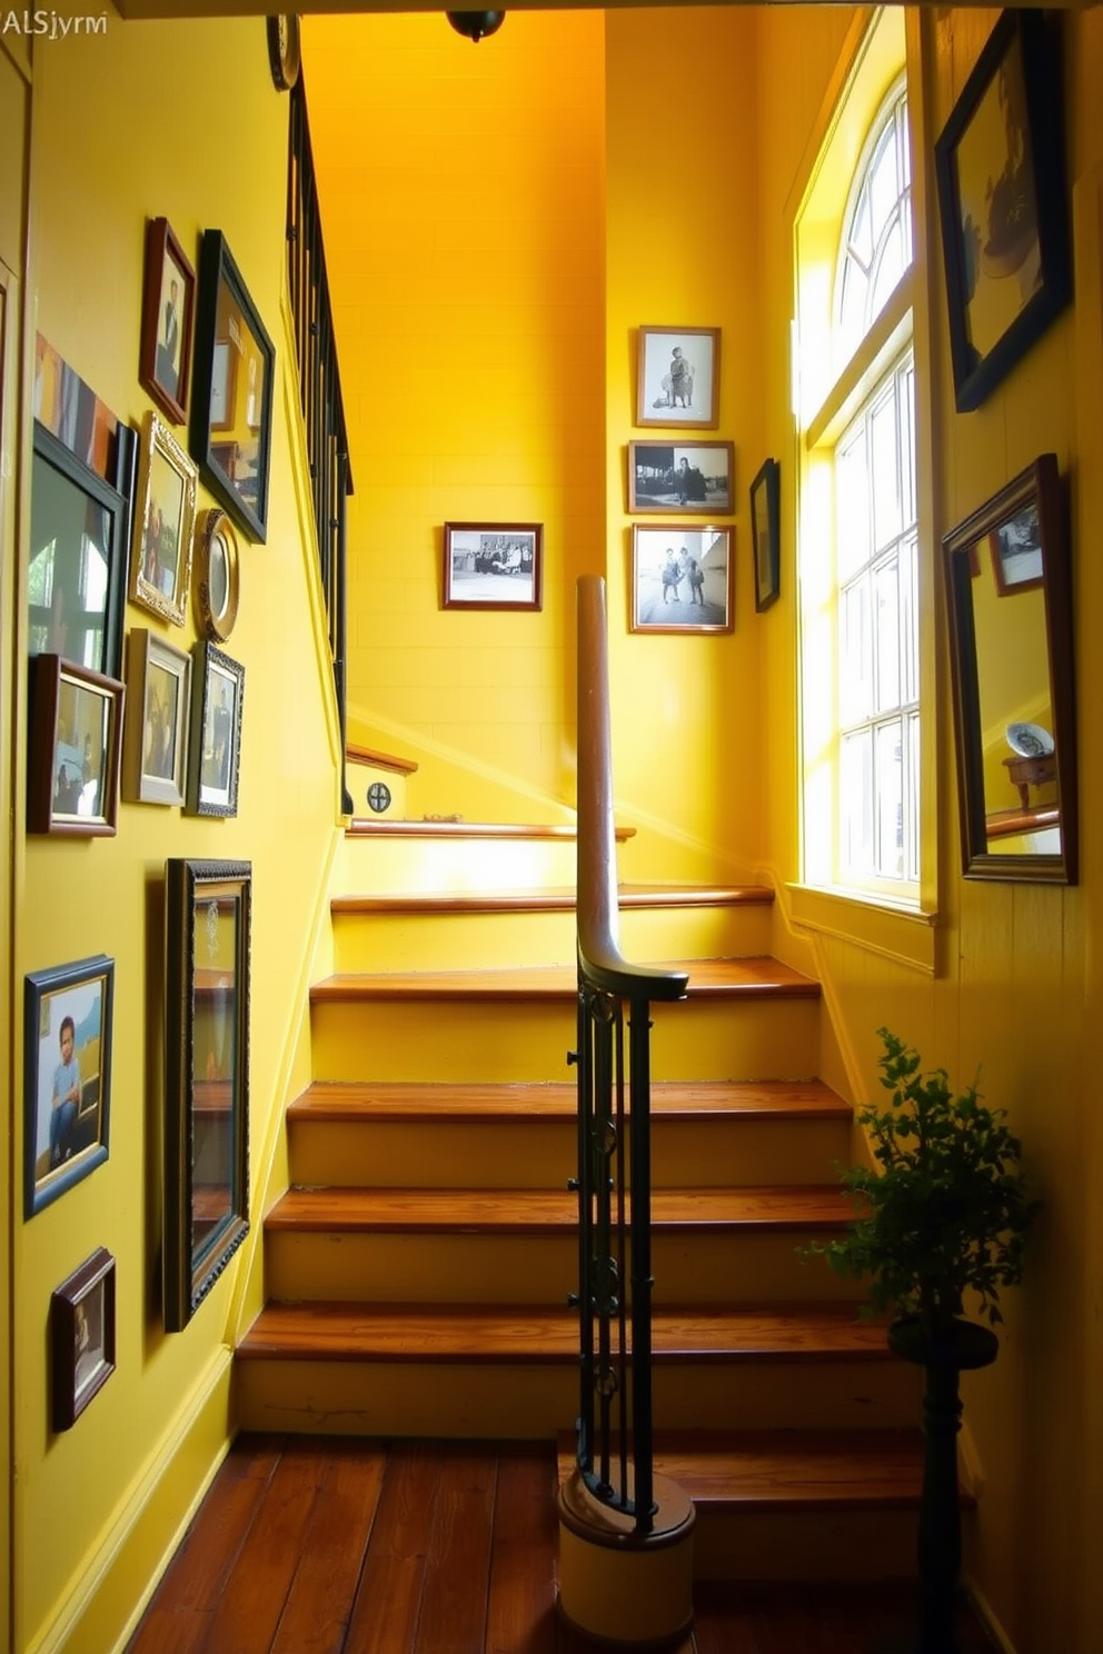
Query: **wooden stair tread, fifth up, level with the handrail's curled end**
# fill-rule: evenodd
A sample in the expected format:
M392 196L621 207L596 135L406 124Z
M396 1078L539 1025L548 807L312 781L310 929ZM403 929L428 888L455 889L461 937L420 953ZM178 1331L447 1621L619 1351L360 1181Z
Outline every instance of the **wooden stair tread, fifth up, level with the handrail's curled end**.
M688 997L819 999L820 984L766 954L744 959L653 961L657 971L686 971ZM311 1004L342 1001L577 1001L575 966L501 971L342 973L311 987Z

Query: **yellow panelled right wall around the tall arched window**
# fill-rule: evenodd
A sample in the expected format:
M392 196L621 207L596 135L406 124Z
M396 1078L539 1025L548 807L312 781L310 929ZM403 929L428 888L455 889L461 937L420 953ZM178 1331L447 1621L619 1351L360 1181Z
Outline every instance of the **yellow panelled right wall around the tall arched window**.
M931 144L941 131L999 13L933 10L910 22L910 83L926 132L916 157L931 190ZM767 445L794 455L787 414L785 323L792 304L792 217L807 184L820 99L835 81L850 13L774 7L762 13L759 154L764 200ZM1067 13L1067 119L1070 189L1078 208L1077 303L974 414L957 415L946 327L941 248L931 217L931 326L934 356L933 531L923 556L938 594L934 653L938 698L939 916L931 974L893 961L890 948L819 933L824 973L848 1080L873 1095L875 1030L888 1024L916 1044L929 1065L966 1083L981 1067L987 1100L1010 1110L1025 1168L1045 1201L1030 1244L1027 1280L1005 1297L1007 1327L994 1368L964 1384L967 1424L982 1472L977 1542L969 1571L1017 1654L1052 1649L1090 1654L1098 1646L1103 1586L1093 1535L1103 1522L1098 1394L1103 1386L1098 1186L1103 1140L1100 1087L1090 1030L1100 1019L1100 984L1090 938L1100 925L1096 748L1103 665L1093 645L1103 612L1095 524L1100 478L1100 379L1103 377L1103 122L1098 79L1103 18ZM797 91L802 119L794 119ZM923 109L926 112L923 114ZM919 170L923 167L923 170ZM933 207L933 192L931 192ZM784 207L782 207L784 202ZM1078 617L1082 882L1078 888L996 885L959 875L957 799L949 706L949 662L938 539L994 495L1039 453L1053 450L1072 478L1073 584ZM795 539L782 471L782 602L771 610L764 678L769 693L766 853L781 880L799 877L795 703L792 678ZM862 931L862 920L850 928ZM878 938L883 939L883 928Z

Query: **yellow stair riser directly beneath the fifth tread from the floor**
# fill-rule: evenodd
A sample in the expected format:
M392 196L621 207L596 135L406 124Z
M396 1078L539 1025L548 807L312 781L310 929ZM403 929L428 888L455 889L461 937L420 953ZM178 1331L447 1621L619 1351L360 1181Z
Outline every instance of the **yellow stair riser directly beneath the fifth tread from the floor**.
M817 999L701 997L652 1006L653 1080L809 1080ZM571 1001L346 1001L311 1009L316 1080L567 1080Z

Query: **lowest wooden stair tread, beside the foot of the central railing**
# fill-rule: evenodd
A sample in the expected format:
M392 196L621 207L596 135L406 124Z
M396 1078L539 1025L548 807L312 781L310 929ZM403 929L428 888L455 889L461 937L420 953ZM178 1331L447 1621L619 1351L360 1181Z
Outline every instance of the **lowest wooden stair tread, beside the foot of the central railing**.
M574 1436L559 1436L559 1474L574 1465ZM923 1489L919 1429L691 1431L655 1436L655 1470L693 1503L731 1510L914 1508ZM964 1503L972 1500L962 1495Z

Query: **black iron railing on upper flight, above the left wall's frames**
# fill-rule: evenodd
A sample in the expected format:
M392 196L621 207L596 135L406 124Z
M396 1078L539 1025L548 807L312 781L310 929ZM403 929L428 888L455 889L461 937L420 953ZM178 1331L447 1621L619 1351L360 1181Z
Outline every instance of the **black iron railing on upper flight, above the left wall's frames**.
M299 74L291 88L288 146L288 280L294 321L294 354L299 369L299 402L306 427L311 495L318 526L318 556L329 619L341 751L346 744L346 501L352 493L349 437L341 400L341 372L329 306L326 248L314 179L311 129L306 117L306 84ZM344 758L342 758L344 764ZM352 814L347 782L341 779L342 809Z

